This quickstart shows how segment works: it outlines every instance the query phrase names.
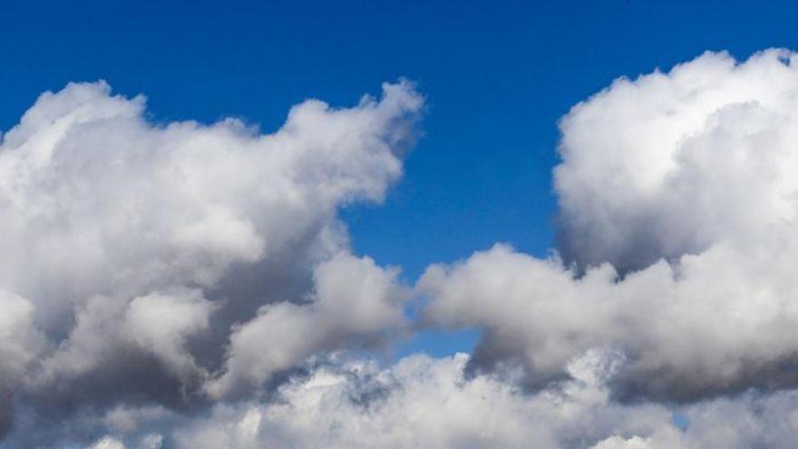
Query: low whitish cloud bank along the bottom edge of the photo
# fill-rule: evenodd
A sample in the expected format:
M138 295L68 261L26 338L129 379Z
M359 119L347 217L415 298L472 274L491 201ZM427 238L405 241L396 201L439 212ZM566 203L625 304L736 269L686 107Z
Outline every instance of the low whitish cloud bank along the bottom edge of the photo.
M367 359L334 356L292 377L267 402L214 405L192 419L167 411L114 411L113 417L101 418L112 433L97 444L176 449L793 445L798 431L794 393L689 405L680 411L689 424L678 426L665 405L612 400L606 381L614 358L591 351L570 364L570 380L529 394L503 377L467 378L469 357L464 354L409 356L386 368ZM153 443L161 445L147 445Z

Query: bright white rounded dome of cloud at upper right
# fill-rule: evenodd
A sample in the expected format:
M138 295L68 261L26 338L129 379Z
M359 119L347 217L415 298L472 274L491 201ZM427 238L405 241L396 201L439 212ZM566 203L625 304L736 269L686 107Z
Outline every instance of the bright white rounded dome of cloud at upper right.
M563 257L627 271L793 223L796 94L798 56L768 50L707 53L580 102L554 170Z

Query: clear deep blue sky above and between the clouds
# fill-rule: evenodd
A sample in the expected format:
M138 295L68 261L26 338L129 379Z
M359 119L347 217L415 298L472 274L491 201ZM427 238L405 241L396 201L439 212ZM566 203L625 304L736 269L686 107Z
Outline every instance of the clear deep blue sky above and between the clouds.
M405 76L428 98L425 136L384 205L343 215L358 253L412 281L496 241L546 253L556 123L574 103L705 50L798 47L796 18L790 3L735 1L0 0L0 129L69 81L144 93L156 121L235 115L272 131L303 99L350 105ZM423 335L400 352L472 340Z

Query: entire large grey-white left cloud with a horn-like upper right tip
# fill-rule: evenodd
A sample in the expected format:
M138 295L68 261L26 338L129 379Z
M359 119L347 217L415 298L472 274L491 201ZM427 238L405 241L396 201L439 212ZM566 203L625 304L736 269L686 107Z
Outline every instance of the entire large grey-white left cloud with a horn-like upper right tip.
M144 107L69 84L2 136L4 432L15 414L185 409L402 325L396 271L348 254L336 210L401 175L423 108L410 83L303 102L271 134Z

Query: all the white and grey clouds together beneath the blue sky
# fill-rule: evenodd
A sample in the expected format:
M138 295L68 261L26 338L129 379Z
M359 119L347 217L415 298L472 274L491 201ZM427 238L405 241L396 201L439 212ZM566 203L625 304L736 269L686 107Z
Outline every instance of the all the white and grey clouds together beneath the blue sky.
M707 53L617 80L560 122L554 255L497 244L414 288L337 218L401 176L411 83L270 134L151 122L104 83L45 93L0 144L0 438L792 447L796 66ZM419 326L482 339L382 360Z

